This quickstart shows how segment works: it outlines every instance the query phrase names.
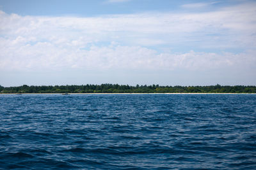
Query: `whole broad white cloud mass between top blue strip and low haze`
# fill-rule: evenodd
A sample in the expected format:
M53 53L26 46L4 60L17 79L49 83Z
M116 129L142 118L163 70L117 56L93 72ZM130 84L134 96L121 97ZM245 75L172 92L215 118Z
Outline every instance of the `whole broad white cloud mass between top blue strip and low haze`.
M253 67L256 64L253 4L206 13L102 17L22 17L0 11L0 69ZM184 51L207 46L224 50L167 53L151 49L162 45L170 49L175 45L191 46ZM225 52L225 48L242 48L244 52Z

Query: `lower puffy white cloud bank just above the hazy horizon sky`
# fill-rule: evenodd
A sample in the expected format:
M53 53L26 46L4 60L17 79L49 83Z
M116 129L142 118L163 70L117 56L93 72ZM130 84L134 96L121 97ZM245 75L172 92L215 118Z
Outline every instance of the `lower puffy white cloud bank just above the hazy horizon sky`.
M22 38L18 38L22 39ZM13 39L9 43L16 43ZM22 42L22 41L21 41ZM90 46L84 50L76 45L56 46L39 42L35 45L16 43L9 50L2 50L0 68L5 70L38 70L67 68L80 69L221 69L224 67L248 67L256 64L252 53L158 53L141 46Z

